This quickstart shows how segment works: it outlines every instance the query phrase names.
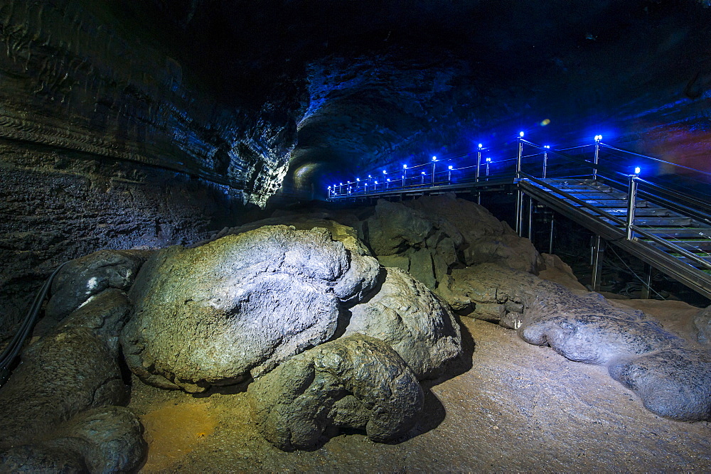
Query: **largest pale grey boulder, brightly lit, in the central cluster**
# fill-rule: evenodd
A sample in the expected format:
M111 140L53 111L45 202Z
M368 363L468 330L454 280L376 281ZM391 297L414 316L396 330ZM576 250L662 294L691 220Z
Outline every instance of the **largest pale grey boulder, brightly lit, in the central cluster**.
M164 249L129 293L126 361L144 381L188 392L259 377L333 337L341 304L378 281L364 252L326 229L284 225Z

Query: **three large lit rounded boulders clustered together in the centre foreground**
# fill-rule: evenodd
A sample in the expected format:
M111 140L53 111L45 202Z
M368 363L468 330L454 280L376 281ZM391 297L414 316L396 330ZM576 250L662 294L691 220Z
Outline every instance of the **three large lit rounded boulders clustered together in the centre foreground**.
M332 426L402 436L418 381L461 354L447 304L336 222L252 227L146 262L121 338L129 368L188 392L253 377L252 416L282 449Z

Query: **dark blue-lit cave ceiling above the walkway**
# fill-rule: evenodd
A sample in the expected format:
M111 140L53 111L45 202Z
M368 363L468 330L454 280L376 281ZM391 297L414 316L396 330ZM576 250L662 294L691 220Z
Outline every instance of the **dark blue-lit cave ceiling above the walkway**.
M554 145L602 133L666 158L709 151L696 145L711 129L707 1L102 5L201 98L186 106L205 117L201 166L267 197L520 129Z

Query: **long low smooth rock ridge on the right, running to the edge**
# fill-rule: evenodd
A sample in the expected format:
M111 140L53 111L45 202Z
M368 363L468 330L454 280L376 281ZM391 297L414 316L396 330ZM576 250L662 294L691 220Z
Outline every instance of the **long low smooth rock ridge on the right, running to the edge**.
M711 419L711 358L641 311L494 264L453 271L443 290L456 308L515 328L528 343L608 367L660 416Z

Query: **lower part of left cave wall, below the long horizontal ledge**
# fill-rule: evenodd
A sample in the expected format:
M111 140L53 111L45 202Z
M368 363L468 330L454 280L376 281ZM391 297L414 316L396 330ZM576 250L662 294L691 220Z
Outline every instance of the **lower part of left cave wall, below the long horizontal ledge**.
M51 147L0 141L0 170L0 333L65 260L193 242L244 212L227 186Z

